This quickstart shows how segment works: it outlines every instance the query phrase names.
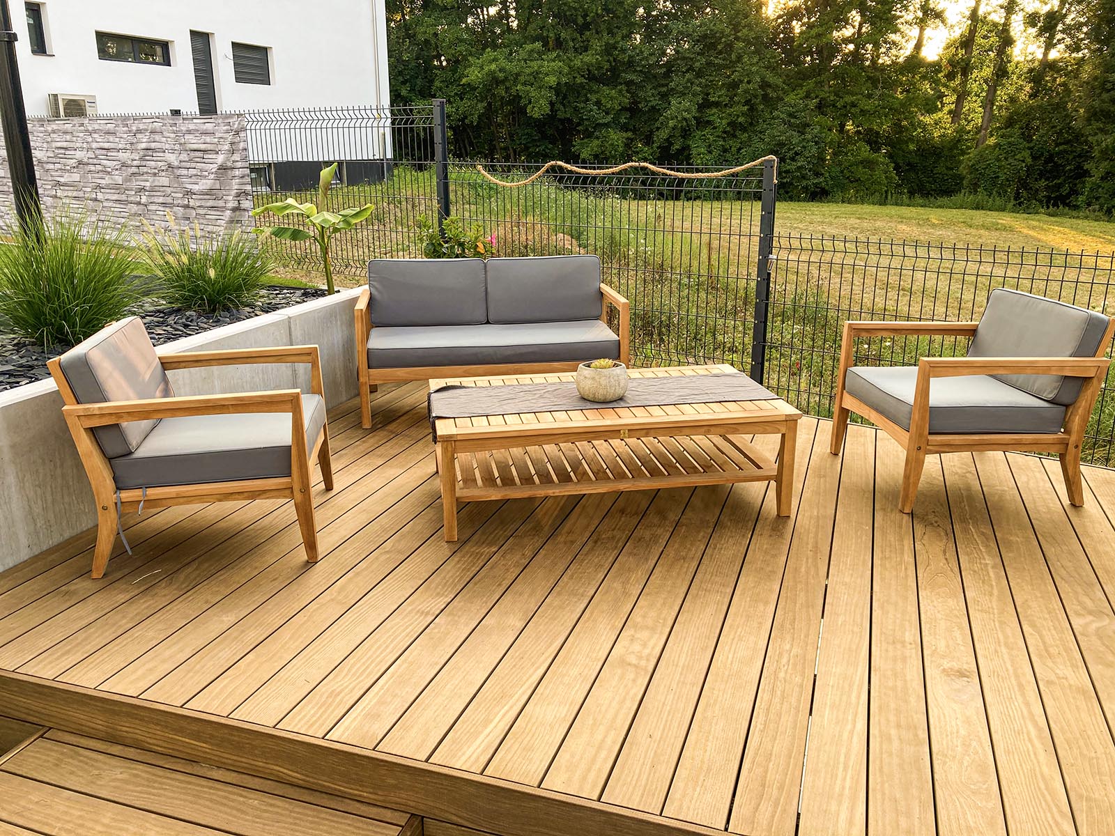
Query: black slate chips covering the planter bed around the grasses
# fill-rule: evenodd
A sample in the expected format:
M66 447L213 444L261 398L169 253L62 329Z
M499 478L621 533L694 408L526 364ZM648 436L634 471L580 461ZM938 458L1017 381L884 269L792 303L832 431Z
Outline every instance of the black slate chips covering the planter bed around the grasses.
M192 337L221 325L259 317L261 313L273 313L323 295L326 295L326 291L317 288L265 288L255 304L235 311L225 311L215 317L182 308L162 307L158 300L148 300L138 305L132 313L143 317L152 341L156 346L162 346L183 337ZM50 377L50 372L47 370L47 360L57 357L65 350L65 347L54 347L49 351L45 351L42 346L25 340L22 337L0 333L0 391Z

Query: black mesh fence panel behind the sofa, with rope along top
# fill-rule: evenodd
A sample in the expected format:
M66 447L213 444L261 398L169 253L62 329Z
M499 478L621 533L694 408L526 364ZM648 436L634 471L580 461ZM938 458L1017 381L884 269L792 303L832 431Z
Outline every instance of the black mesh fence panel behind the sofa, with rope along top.
M508 187L487 181L477 165L449 166L452 214L494 234L496 256L599 255L603 281L631 302L632 362L749 367L760 168L700 179L646 168L607 175L556 169ZM479 165L514 183L539 171Z

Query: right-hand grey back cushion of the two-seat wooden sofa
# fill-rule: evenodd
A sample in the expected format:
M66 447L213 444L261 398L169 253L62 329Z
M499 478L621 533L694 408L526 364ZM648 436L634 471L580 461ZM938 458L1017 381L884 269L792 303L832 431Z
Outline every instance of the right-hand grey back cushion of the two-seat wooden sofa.
M568 322L598 319L600 259L595 255L550 255L488 259L487 321Z

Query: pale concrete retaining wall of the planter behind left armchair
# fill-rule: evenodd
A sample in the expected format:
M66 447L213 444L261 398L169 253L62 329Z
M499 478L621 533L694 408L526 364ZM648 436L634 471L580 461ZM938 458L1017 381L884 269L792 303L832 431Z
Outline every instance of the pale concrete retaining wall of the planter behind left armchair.
M342 291L277 313L161 346L161 354L263 346L317 344L330 407L358 393L352 309L359 290ZM295 366L236 366L171 372L177 395L300 388ZM51 380L0 392L0 570L96 524L93 493L61 417Z

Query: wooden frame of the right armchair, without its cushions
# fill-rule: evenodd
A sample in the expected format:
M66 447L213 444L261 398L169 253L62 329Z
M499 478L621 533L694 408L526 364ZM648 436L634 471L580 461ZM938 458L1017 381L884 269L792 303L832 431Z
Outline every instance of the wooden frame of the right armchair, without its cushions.
M867 337L930 336L972 337L978 322L845 322L841 342L840 371L836 379L836 399L833 410L830 451L840 454L852 412L863 416L898 441L905 450L902 472L902 492L899 508L909 514L918 495L918 483L925 466L925 456L934 453L977 450L1016 450L1020 453L1055 453L1060 459L1065 489L1073 505L1084 505L1084 485L1080 476L1080 451L1084 432L1095 407L1099 388L1111 360L1104 354L1115 336L1115 320L1108 323L1095 357L923 357L918 362L914 385L913 411L906 430L850 395L844 388L849 368L852 367L855 340ZM963 377L966 375L1059 375L1084 378L1077 399L1065 410L1065 422L1059 432L988 432L988 434L930 434L929 387L934 378Z

